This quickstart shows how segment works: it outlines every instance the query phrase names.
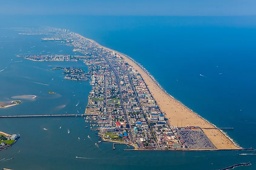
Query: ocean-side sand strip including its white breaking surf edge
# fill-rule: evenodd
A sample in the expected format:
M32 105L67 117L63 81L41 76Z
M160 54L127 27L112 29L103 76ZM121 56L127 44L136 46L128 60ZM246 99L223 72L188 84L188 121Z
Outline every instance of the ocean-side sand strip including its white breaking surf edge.
M115 51L115 50L109 49L107 47L101 46L100 44L98 44L94 40L85 38L85 37L81 36L80 34L77 34L77 33L75 33L75 34L77 36L81 37L81 38L89 40L90 42L94 42L97 46L99 46L101 48L104 48L105 50ZM123 53L120 53L118 51L115 51L115 53L117 53L121 57L123 57L123 59L129 65L131 65L134 69L136 69L141 74L141 76L142 76L144 82L146 83L150 93L154 97L155 101L157 101L157 104L159 105L161 111L165 113L166 118L171 120L171 121L168 120L168 122L172 126L174 126L174 124L178 125L179 120L181 120L181 122L182 122L182 120L183 121L185 120L185 122L184 122L185 125L186 124L190 125L190 123L191 124L194 123L194 124L192 124L192 126L200 126L201 128L202 127L215 127L216 128L216 126L213 123L211 123L207 119L203 118L198 113L195 113L192 109L190 109L187 106L185 106L184 104L182 104L181 101L178 101L173 96L168 94L167 91L164 88L162 88L161 85L155 80L155 78L148 72L148 70L146 70L143 66L141 66L141 64L139 64L134 59L132 59L131 57L129 57L129 56L123 54ZM169 99L169 102L165 101L166 98L167 98L167 100ZM167 111L165 111L164 109L167 110ZM177 109L177 112L176 112L175 109ZM182 113L182 115L177 114L179 111ZM175 117L175 114L176 114L176 117ZM173 123L173 121L175 123ZM241 150L242 149L223 130L217 130L216 129L216 130L210 130L209 131L209 130L204 129L203 131L206 134L206 136L208 136L208 138L211 140L211 142L215 146L217 145L216 147L219 150L221 150L221 149L224 149L224 150L230 150L230 149ZM213 136L213 134L214 134L214 136Z

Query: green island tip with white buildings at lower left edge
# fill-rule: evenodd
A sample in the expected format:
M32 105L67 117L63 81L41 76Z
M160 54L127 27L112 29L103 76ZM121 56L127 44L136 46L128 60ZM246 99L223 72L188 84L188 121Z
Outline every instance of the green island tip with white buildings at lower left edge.
M0 148L12 146L19 138L20 136L16 134L9 135L7 133L0 132Z

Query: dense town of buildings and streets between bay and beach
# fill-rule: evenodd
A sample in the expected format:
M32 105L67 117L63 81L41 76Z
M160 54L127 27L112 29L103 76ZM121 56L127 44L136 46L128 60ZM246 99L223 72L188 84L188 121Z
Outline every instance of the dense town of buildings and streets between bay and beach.
M72 32L56 31L66 45L82 54L63 60L82 60L88 66L92 90L85 114L90 115L87 120L91 130L99 130L112 140L133 143L138 149L198 149L202 143L206 143L205 148L214 148L200 127L170 125L141 74L120 53ZM194 141L193 133L201 141Z

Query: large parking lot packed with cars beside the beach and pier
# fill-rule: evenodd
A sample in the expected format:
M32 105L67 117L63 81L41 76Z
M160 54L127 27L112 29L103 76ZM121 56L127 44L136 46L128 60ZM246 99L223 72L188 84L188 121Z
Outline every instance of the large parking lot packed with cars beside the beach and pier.
M201 130L178 130L181 140L191 149L215 149L208 137Z

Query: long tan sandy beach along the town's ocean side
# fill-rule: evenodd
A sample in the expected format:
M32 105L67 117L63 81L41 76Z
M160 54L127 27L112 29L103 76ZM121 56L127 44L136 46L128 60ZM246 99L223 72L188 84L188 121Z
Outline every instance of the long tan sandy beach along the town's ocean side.
M79 34L76 34L79 37L85 38ZM85 38L90 42L95 42L94 40ZM95 42L96 45L109 50L113 51L107 47L103 47ZM145 83L147 84L151 94L154 96L155 100L157 101L158 105L160 106L161 110L165 112L165 117L168 118L169 122L172 126L199 126L201 128L214 128L211 123L208 123L198 114L194 113L175 98L172 98L168 94L165 93L154 81L151 77L148 76L144 70L142 70L136 63L130 60L128 57L122 55L115 51L115 53L119 54L121 57L125 59L125 61L133 66L138 72L141 74L142 78L144 79ZM239 147L235 146L234 143L225 136L221 130L211 129L206 130L203 129L204 133L208 136L211 142L218 148L218 149L240 149Z

